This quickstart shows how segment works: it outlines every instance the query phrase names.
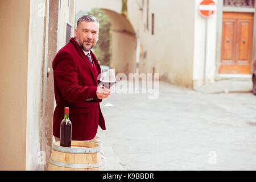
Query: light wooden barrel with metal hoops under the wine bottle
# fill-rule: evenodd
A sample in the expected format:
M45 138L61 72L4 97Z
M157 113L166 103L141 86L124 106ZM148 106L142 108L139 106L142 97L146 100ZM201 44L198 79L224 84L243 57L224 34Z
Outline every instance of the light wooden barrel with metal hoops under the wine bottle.
M101 170L100 146L96 143L72 140L71 147L61 147L55 142L48 171L98 171Z

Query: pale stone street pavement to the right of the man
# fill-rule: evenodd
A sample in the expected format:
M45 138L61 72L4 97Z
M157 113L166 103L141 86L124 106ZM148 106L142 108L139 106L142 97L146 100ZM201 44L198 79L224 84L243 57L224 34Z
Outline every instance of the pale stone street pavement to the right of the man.
M159 82L156 100L114 93L114 107L102 101L108 170L255 170L256 96L207 89Z

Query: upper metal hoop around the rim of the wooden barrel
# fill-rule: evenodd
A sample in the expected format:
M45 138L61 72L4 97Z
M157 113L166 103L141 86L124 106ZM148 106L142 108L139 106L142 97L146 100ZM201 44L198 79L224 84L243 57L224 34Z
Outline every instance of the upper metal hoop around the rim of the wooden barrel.
M93 147L93 148L87 148L87 147L72 148L72 147L60 147L53 144L52 149L58 152L73 153L73 154L92 154L92 153L100 152L100 146Z

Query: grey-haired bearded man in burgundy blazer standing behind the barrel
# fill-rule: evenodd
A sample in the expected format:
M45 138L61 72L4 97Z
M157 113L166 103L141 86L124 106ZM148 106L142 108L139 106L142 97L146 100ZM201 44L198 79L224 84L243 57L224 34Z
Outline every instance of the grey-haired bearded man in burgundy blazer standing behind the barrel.
M75 38L60 49L52 62L56 108L53 114L53 135L60 137L60 122L64 107L69 107L72 122L72 140L86 140L100 145L98 125L106 130L100 102L110 90L98 86L100 64L91 49L98 41L99 22L92 15L77 20ZM102 169L106 169L101 147Z

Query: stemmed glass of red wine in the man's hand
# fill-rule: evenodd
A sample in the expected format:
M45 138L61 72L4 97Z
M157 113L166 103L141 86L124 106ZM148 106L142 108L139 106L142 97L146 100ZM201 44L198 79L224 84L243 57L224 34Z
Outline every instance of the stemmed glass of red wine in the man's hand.
M110 89L110 87L112 85L114 85L115 81L116 81L115 69L102 69L100 81L101 81L102 86ZM104 106L109 107L109 106L114 106L114 105L109 103L109 98L108 98L108 103L105 104Z

